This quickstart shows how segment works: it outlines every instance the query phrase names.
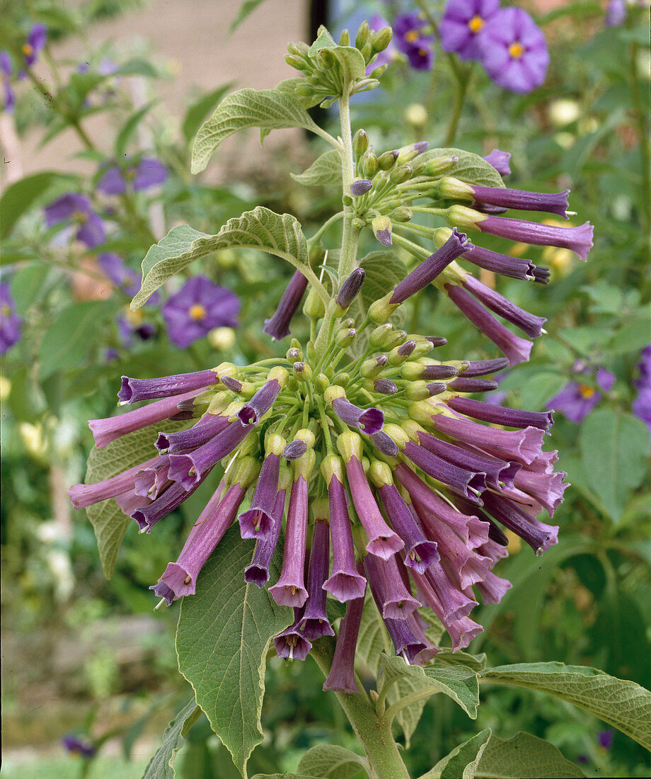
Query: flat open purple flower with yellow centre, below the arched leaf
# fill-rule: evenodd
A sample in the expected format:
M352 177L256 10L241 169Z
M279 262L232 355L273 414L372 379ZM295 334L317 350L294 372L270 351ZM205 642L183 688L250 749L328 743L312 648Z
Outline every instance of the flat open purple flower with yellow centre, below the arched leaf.
M237 327L239 311L236 294L195 276L163 306L163 317L171 342L185 349L214 327Z

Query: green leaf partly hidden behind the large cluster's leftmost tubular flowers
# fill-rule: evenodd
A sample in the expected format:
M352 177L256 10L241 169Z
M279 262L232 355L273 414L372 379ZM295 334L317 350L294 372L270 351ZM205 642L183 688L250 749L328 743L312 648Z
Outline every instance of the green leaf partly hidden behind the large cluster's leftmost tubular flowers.
M192 420L177 422L157 422L143 430L135 430L127 433L119 439L111 441L103 449L91 449L88 456L86 469L86 484L95 484L97 481L109 479L112 476L128 471L139 463L144 463L157 455L157 449L153 446L158 432L176 432L192 425ZM125 537L131 517L122 513L114 498L102 500L88 506L86 514L95 530L97 538L97 550L100 553L102 570L107 579L111 579L115 570L115 560L118 558L118 549Z

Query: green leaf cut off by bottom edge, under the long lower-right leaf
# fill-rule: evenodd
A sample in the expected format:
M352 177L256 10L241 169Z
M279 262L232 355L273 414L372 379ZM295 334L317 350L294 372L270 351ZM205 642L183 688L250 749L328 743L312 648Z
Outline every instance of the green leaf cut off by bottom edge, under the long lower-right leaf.
M508 739L492 736L475 773L477 779L575 779L584 775L553 744L522 732Z

